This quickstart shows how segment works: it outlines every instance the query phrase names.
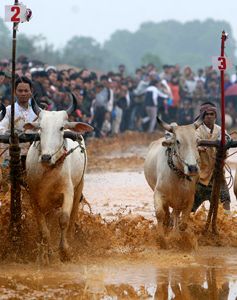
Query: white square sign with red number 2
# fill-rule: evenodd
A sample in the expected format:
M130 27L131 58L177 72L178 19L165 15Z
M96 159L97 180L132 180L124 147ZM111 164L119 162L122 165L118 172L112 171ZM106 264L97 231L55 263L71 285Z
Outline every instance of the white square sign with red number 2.
M26 21L26 6L25 5L6 5L5 6L5 21L6 22L25 22Z

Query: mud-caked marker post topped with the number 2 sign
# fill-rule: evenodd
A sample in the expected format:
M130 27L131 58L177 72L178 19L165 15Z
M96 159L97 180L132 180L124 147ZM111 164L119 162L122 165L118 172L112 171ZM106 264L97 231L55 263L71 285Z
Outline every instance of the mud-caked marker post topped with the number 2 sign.
M20 161L19 137L15 132L15 80L16 80L16 44L17 28L20 22L29 21L31 10L25 5L14 0L14 5L5 6L5 21L13 23L12 34L12 74L11 74L11 130L8 138L10 154L10 180L11 180L11 203L10 203L10 239L15 247L15 253L21 250L21 178L22 167ZM1 136L0 141L4 141L6 136Z

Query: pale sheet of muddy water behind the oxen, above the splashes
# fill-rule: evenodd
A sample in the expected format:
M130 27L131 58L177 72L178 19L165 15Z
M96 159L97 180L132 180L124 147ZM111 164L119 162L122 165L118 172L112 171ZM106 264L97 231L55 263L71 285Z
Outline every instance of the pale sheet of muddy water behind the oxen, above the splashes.
M232 170L234 176L235 170ZM153 193L142 171L106 172L85 176L84 194L90 199L92 211L106 219L116 218L119 214L139 214L155 220ZM237 201L230 188L231 211L237 210ZM209 207L209 202L205 202Z

